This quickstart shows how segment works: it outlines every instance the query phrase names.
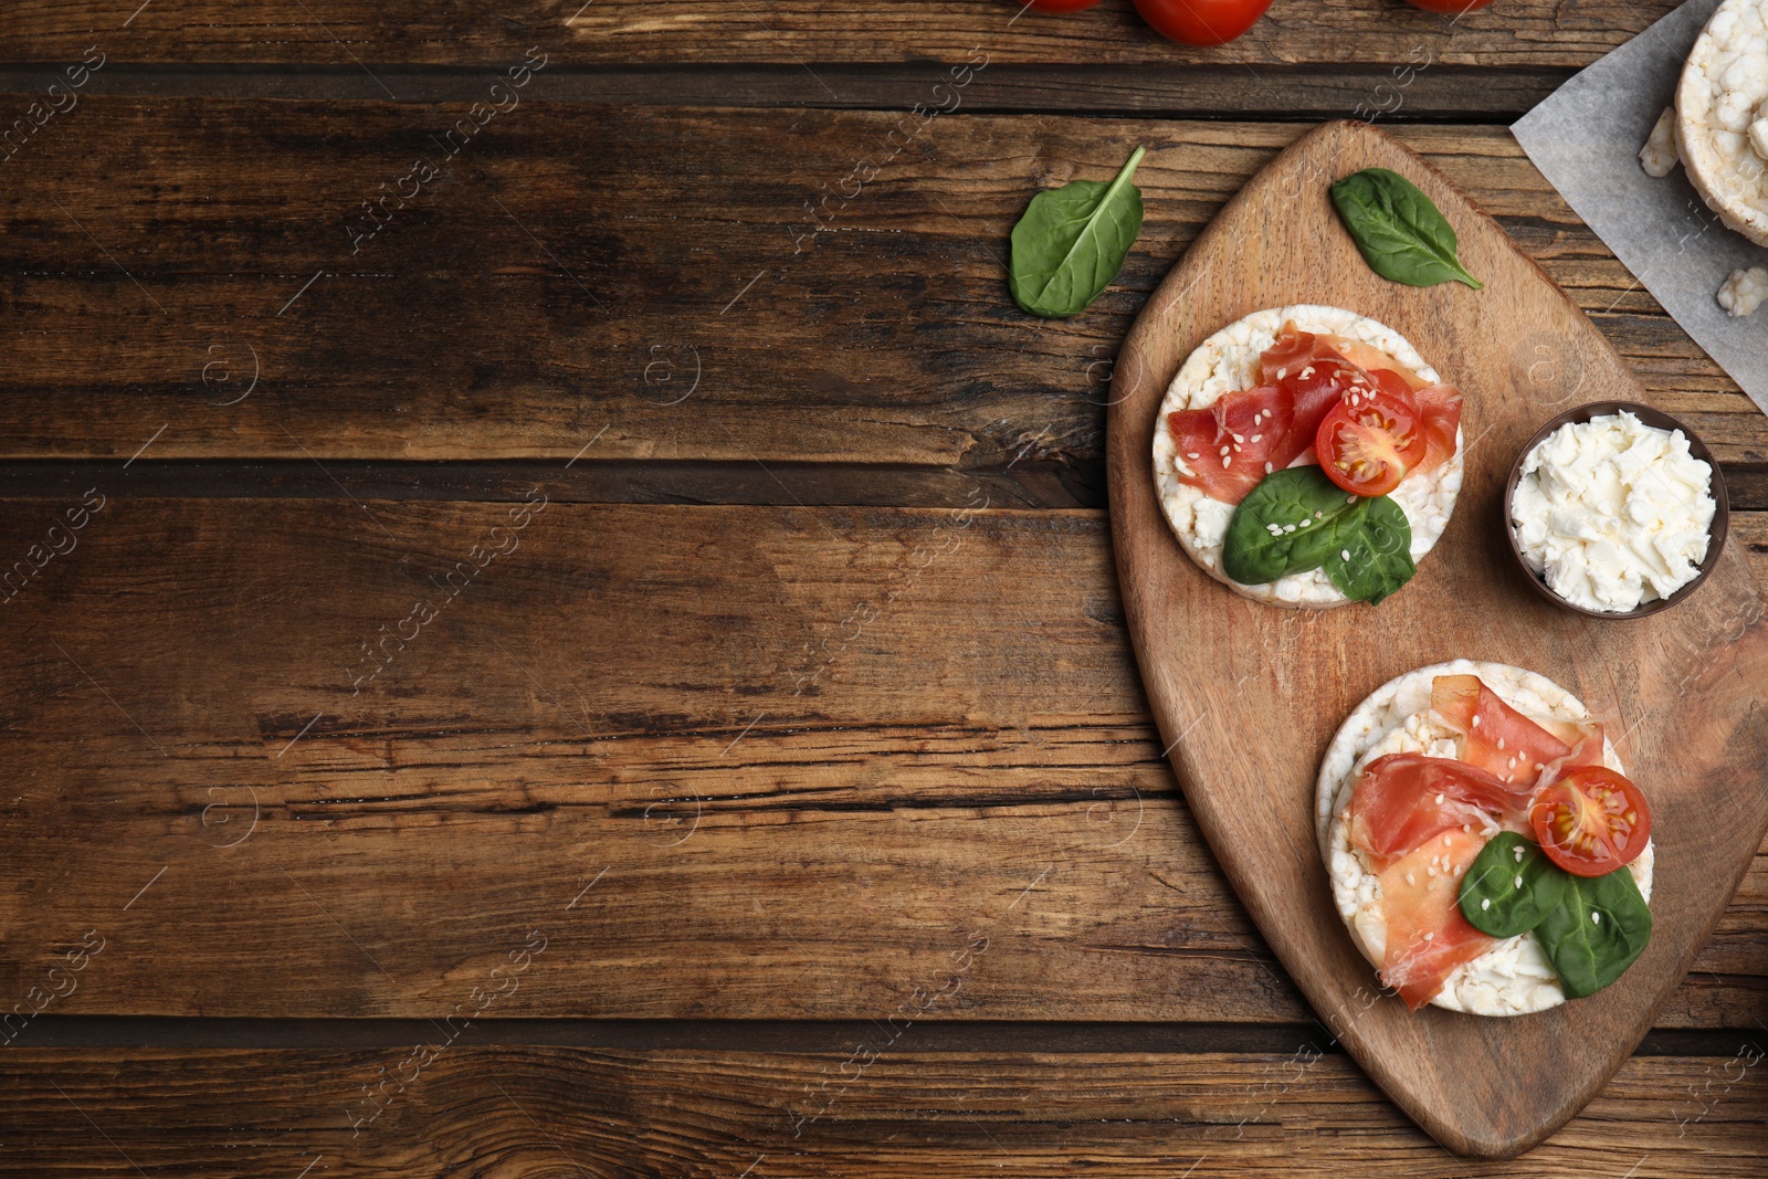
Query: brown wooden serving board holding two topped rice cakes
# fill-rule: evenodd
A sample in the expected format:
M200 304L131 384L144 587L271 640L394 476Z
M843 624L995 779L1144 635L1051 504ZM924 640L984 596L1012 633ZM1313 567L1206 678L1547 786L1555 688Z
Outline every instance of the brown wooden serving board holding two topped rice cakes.
M1485 283L1376 276L1328 186L1360 168L1418 184ZM1466 486L1418 576L1379 606L1266 606L1208 578L1155 497L1155 417L1181 361L1261 308L1322 302L1398 329L1466 396ZM1349 122L1255 175L1172 269L1116 368L1109 477L1117 574L1172 767L1231 884L1321 1022L1446 1147L1510 1158L1570 1119L1637 1046L1768 829L1768 626L1736 541L1685 603L1595 620L1542 601L1506 551L1503 486L1545 419L1644 391L1591 322L1448 180ZM1377 686L1453 658L1533 668L1609 725L1655 811L1655 930L1623 979L1517 1018L1376 993L1328 889L1314 781L1345 714Z

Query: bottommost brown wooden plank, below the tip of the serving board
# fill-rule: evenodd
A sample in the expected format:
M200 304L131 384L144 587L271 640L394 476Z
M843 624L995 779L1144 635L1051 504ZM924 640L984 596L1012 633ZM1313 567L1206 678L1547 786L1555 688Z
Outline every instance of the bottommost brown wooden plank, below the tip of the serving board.
M378 1052L12 1050L0 1174L1517 1174L1448 1154L1314 1041L925 1053L903 1050L907 1023L826 1053L490 1048L476 1029ZM1734 1055L1628 1061L1526 1172L1754 1179L1763 1048L1757 1034Z

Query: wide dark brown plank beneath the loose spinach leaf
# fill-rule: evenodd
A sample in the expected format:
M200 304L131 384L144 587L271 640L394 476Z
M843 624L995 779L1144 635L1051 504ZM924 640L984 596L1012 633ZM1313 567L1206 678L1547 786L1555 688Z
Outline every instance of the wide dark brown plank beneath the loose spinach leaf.
M898 115L523 103L354 239L361 202L440 157L463 115L88 97L51 122L0 193L0 458L126 461L152 440L145 460L1045 463L1096 486L1130 318L1301 131L958 113L905 124L893 154ZM1768 467L1761 414L1508 131L1400 134L1597 316L1657 405L1722 461ZM1027 198L1109 175L1133 141L1147 221L1117 286L1075 320L1022 315L1002 249ZM812 221L859 159L877 179Z

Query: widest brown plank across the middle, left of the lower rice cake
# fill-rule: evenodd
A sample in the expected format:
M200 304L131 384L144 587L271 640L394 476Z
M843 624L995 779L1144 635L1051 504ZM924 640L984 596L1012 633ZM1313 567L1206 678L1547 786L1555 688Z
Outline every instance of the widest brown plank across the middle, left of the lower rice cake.
M1101 513L552 502L447 597L509 504L127 477L5 605L7 1006L95 930L46 1011L440 1018L541 928L497 1015L863 1018L981 930L941 1018L1310 1018L1162 762ZM1757 857L1660 1022L1750 1027L1764 951Z

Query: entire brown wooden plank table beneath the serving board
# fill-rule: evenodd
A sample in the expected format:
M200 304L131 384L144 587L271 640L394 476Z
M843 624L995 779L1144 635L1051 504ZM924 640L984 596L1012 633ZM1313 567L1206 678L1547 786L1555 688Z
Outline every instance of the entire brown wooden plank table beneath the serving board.
M1103 502L1142 299L1365 117L1768 578L1768 424L1505 127L1671 5L578 4L0 11L0 1172L1761 1174L1768 861L1452 1158L1202 845ZM1133 143L1123 276L1024 316L1011 223Z

